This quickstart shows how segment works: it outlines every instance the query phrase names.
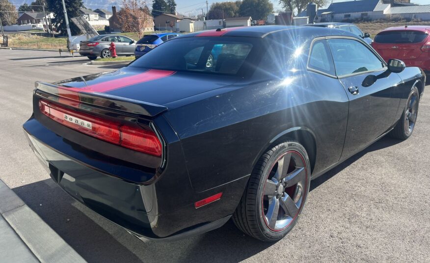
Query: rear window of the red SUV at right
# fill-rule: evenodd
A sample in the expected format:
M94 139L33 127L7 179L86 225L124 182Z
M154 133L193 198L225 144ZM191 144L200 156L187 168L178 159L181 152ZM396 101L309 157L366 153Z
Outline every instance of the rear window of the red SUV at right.
M402 44L402 43L420 43L428 34L422 31L385 31L380 32L375 36L374 41L376 43L391 43L391 44Z

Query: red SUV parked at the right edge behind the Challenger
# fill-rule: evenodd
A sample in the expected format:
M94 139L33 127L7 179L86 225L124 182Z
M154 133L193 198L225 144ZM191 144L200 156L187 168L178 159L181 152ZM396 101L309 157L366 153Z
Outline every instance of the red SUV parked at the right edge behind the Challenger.
M406 66L422 68L430 74L430 26L388 28L376 34L372 47L385 61L402 60Z

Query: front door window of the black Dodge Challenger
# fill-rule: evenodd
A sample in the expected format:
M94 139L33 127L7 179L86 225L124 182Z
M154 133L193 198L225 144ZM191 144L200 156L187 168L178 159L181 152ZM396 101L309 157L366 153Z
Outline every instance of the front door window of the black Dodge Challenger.
M384 64L365 44L353 39L328 39L337 76L384 68Z

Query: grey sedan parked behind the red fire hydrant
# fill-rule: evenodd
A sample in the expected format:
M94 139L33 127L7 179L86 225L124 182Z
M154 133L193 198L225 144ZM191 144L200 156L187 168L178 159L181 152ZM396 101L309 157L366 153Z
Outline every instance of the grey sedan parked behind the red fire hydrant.
M110 43L115 44L116 55L132 56L136 47L136 41L123 35L98 35L87 41L81 41L79 54L93 60L97 57L110 58Z

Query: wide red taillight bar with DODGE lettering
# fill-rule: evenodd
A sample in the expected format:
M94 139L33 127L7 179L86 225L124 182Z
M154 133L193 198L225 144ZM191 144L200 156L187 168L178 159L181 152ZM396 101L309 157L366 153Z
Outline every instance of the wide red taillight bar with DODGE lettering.
M144 130L118 121L107 120L70 110L57 104L39 101L44 115L74 130L136 151L161 156L161 142L151 130Z

